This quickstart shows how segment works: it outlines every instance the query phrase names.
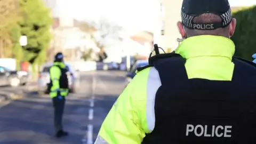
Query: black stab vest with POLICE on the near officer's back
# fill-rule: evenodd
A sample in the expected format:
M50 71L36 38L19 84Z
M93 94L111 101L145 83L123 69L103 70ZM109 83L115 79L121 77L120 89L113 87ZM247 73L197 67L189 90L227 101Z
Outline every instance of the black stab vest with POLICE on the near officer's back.
M142 143L255 144L256 65L233 58L232 80L210 81L188 79L185 62L174 53L149 59L162 86L156 93L155 128Z

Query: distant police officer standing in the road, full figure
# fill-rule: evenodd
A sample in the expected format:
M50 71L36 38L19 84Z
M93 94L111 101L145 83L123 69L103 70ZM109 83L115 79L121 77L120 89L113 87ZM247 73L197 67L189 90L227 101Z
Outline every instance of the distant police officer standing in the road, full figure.
M49 84L50 97L54 107L54 127L57 138L68 135L62 128L62 115L65 107L65 97L68 95L68 78L63 54L55 55L53 66L50 68L51 81Z

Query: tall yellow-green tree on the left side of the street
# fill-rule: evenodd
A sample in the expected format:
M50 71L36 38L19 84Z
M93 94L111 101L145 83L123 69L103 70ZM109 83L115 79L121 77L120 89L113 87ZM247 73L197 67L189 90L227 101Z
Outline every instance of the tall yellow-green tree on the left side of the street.
M23 46L23 60L42 65L51 41L52 18L50 10L41 0L20 0L22 20L21 35L26 35L28 44Z

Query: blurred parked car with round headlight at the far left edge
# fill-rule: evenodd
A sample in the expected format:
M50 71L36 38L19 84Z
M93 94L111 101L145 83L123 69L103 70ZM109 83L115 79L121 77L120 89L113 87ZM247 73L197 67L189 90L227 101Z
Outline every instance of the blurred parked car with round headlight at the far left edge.
M0 85L19 86L25 85L28 81L28 72L21 70L10 70L0 66Z

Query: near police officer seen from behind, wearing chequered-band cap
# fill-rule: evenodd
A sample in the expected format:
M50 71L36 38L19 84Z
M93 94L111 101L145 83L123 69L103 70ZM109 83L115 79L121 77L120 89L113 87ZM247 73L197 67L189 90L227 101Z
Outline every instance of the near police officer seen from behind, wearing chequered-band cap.
M256 143L256 67L233 57L227 0L183 0L173 53L149 58L95 143Z

